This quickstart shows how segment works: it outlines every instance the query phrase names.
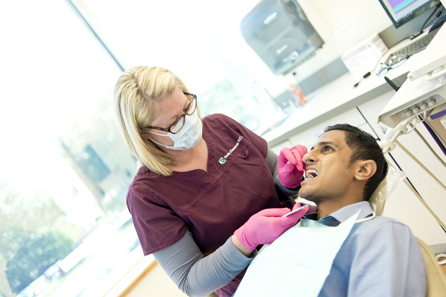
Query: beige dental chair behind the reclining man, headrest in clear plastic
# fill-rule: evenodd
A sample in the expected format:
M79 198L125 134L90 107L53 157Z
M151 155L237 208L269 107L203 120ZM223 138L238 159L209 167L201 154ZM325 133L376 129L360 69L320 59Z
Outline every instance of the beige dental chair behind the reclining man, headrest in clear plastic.
M389 168L390 169L390 168ZM377 187L375 192L369 198L369 203L376 215L381 216L386 202L386 195L383 198L383 193L389 193L387 189L387 178L384 179ZM390 190L391 192L392 190ZM389 194L387 194L389 195ZM417 238L423 253L424 262L426 264L426 279L427 292L426 297L445 297L446 296L446 275L442 271L434 252L422 240Z

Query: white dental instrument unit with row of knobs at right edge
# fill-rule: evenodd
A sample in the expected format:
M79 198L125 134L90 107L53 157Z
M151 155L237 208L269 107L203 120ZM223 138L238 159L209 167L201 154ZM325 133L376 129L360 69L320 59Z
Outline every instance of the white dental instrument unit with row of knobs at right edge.
M415 60L411 61L410 72L407 80L399 87L396 94L390 99L378 116L378 123L383 123L390 127L386 132L386 137L380 141L383 151L388 152L393 149L396 138L407 132L406 126L415 117L422 116L428 118L434 110L443 110L446 106L446 26L439 29L435 37L426 49L418 53ZM431 129L434 128L423 121L423 124ZM393 129L392 129L393 128ZM429 129L428 132L429 132ZM430 133L434 141L444 148L439 136L445 133L445 127L438 127L436 133ZM398 144L400 146L400 144ZM413 158L413 157L412 157ZM421 167L422 168L422 167ZM434 175L428 172L431 177ZM414 195L431 213L440 226L446 230L446 224L421 197L415 187L408 181L404 183L412 190Z

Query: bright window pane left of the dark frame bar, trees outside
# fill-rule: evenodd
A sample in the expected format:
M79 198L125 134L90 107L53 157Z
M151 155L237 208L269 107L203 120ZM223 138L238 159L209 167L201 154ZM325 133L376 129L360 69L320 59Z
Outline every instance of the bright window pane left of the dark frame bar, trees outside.
M139 247L111 103L121 71L64 1L0 11L0 296L93 296Z

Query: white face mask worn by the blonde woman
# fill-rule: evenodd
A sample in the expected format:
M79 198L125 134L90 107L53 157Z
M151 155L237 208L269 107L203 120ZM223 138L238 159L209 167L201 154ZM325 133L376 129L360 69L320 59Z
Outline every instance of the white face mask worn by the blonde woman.
M195 109L194 113L186 115L184 118L184 126L178 133L172 134L169 132L167 134L159 134L152 131L149 132L160 136L167 136L173 141L173 147L170 147L152 140L157 145L173 150L186 150L195 147L202 138L203 123L198 117L198 109Z

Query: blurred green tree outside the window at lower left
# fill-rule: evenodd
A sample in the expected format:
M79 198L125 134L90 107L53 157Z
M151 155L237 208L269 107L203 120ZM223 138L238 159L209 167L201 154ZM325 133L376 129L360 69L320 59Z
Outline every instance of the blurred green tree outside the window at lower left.
M80 232L63 214L45 192L25 198L0 184L0 258L11 291L19 293L73 249Z

